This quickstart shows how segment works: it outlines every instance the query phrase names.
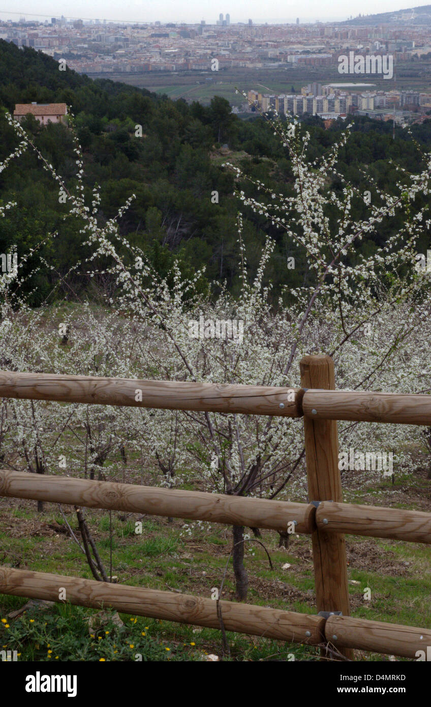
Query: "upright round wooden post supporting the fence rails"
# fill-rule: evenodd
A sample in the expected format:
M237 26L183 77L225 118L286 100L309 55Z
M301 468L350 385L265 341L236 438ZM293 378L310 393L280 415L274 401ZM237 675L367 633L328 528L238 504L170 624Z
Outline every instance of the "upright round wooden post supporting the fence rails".
M333 390L335 376L330 356L305 356L300 361L303 388ZM309 501L343 501L338 469L338 433L335 420L304 416L305 458ZM312 533L317 612L350 614L346 539L322 530ZM336 645L336 639L332 641ZM353 650L338 648L353 660Z

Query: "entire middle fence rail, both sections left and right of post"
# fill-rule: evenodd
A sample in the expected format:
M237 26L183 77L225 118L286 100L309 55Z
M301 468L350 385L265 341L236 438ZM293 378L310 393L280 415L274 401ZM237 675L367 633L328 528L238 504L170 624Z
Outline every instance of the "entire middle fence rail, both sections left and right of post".
M0 496L247 525L280 532L286 532L288 524L294 522L297 533L312 533L317 529L431 544L431 513L401 508L321 501L316 510L312 503L160 489L8 469L0 469Z

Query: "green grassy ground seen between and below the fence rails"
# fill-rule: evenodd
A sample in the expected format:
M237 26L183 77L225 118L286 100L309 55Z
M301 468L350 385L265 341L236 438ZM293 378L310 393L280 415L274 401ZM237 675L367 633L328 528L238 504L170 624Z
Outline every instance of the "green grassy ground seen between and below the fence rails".
M408 498L406 489L413 490L416 498L428 498L431 482L425 477L397 477L394 487L384 480L381 484L361 487L345 495L356 503L372 503L375 496L375 502L383 506L414 508L416 498ZM390 496L385 496L391 491L396 491L394 502ZM405 495L399 496L401 492ZM78 534L73 511L68 507L64 510ZM136 533L135 515L125 517L122 513L112 512L110 522L107 511L88 509L86 519L107 575L110 575L112 547L112 575L116 575L117 582L209 598L214 587L221 588L225 575L221 598L235 600L229 527L207 523L193 525L189 520L178 519L168 522L165 518L146 516L140 521L142 527L138 526L142 532ZM44 513L37 513L34 501L0 498L0 545L4 549L1 563L40 572L93 578L77 544L68 534L57 532L56 525L50 529L49 525L53 524L57 524L57 530L58 525L64 527L64 520L55 505L46 503ZM191 525L191 534L184 529L185 524ZM259 544L246 544L245 564L250 581L247 602L315 614L311 539L294 536L288 550L278 548L276 533L262 531L261 540L271 554L273 569ZM348 536L346 540L348 579L353 580L349 584L351 614L431 628L429 548L422 544L365 537ZM290 568L283 569L285 563L290 564ZM370 599L364 597L365 588L370 588ZM95 621L100 612L71 607L70 604L28 609L22 617L8 619L8 613L25 602L18 597L0 595L0 617L9 624L6 628L5 621L1 622L0 647L18 650L20 660L105 658L127 661L136 660L135 653L141 655L142 660L206 660L206 653L223 655L220 631L141 617L132 622L126 615L122 615L123 627L102 626L92 631L95 638L91 638L88 620L93 617ZM51 648L47 648L48 643ZM292 655L295 660L316 660L318 657L314 648L235 633L228 633L228 643L230 658L225 656L226 660L290 660ZM47 653L47 650L53 653ZM56 655L59 658L55 658ZM357 659L387 660L366 653L358 653Z

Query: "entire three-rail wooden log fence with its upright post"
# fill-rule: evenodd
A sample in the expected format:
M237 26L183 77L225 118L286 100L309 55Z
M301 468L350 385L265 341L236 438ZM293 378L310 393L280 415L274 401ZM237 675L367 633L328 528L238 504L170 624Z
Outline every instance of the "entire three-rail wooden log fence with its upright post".
M331 645L340 658L353 649L415 658L431 645L431 629L350 617L345 534L431 544L431 513L342 503L336 420L431 426L431 396L333 390L329 356L305 356L300 388L213 385L0 372L0 398L56 400L304 418L310 503L288 503L152 486L42 476L0 469L0 496L89 508L208 520L311 534L316 614L0 567L0 593L278 638ZM136 390L141 401L136 402ZM323 649L322 649L323 650ZM334 655L332 652L331 655Z

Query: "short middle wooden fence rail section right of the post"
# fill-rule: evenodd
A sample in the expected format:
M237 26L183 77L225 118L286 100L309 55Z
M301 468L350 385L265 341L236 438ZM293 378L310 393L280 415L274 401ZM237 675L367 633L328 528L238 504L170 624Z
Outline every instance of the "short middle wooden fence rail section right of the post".
M387 537L431 544L431 513L402 508L353 506L322 501L316 511L319 530Z

